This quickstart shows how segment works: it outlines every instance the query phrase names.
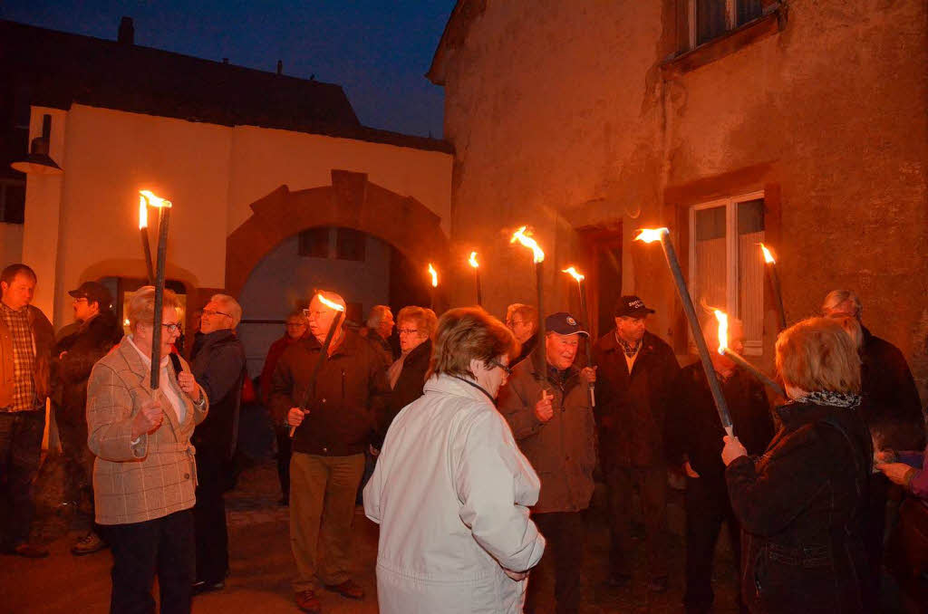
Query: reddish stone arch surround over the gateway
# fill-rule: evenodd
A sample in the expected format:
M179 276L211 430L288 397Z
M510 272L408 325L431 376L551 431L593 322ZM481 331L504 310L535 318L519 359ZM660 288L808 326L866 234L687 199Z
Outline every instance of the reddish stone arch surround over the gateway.
M448 262L441 218L416 198L367 181L367 173L332 170L332 185L290 192L287 185L251 203L251 217L226 238L226 291L238 297L248 276L284 239L314 226L354 228L380 237L423 270Z

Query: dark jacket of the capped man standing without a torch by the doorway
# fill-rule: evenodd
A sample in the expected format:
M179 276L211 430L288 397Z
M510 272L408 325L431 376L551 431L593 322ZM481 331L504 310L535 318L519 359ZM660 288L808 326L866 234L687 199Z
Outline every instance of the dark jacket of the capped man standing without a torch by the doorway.
M603 468L651 467L666 462L665 417L680 365L663 339L645 332L631 374L612 329L593 347L599 462Z

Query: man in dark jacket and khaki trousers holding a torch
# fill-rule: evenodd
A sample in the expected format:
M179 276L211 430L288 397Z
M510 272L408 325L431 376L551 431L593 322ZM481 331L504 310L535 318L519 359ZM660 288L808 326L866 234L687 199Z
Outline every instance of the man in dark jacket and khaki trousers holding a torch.
M364 597L349 572L354 497L376 416L390 394L380 356L366 339L343 325L332 338L310 390L322 344L335 321L336 309L331 305L343 310L345 302L331 292L313 297L311 337L280 357L271 392L275 412L286 412L296 429L290 459L290 545L298 574L293 582L296 603L305 612L319 611L319 581L342 596ZM326 545L325 560L317 565L320 540Z

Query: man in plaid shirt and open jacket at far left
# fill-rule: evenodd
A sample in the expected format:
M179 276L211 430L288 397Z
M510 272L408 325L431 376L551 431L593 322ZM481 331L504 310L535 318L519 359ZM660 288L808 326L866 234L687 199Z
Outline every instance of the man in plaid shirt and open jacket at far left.
M0 552L30 558L48 556L29 542L29 532L55 342L45 313L30 304L35 283L35 272L25 264L10 264L0 273L0 505L6 512Z

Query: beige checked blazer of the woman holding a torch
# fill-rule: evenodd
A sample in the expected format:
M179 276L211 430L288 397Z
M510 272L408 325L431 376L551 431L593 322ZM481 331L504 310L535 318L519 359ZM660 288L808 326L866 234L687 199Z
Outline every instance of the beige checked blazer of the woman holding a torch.
M184 370L189 365L181 359ZM193 507L197 486L193 428L206 417L208 404L197 409L180 390L174 369L171 386L187 404L178 423L171 402L161 390L164 409L161 427L132 444L132 421L142 404L152 398L148 365L128 338L94 365L87 385L87 445L97 454L94 463L94 501L97 523L128 524L161 518ZM202 398L205 392L200 390ZM207 402L208 403L208 402Z

